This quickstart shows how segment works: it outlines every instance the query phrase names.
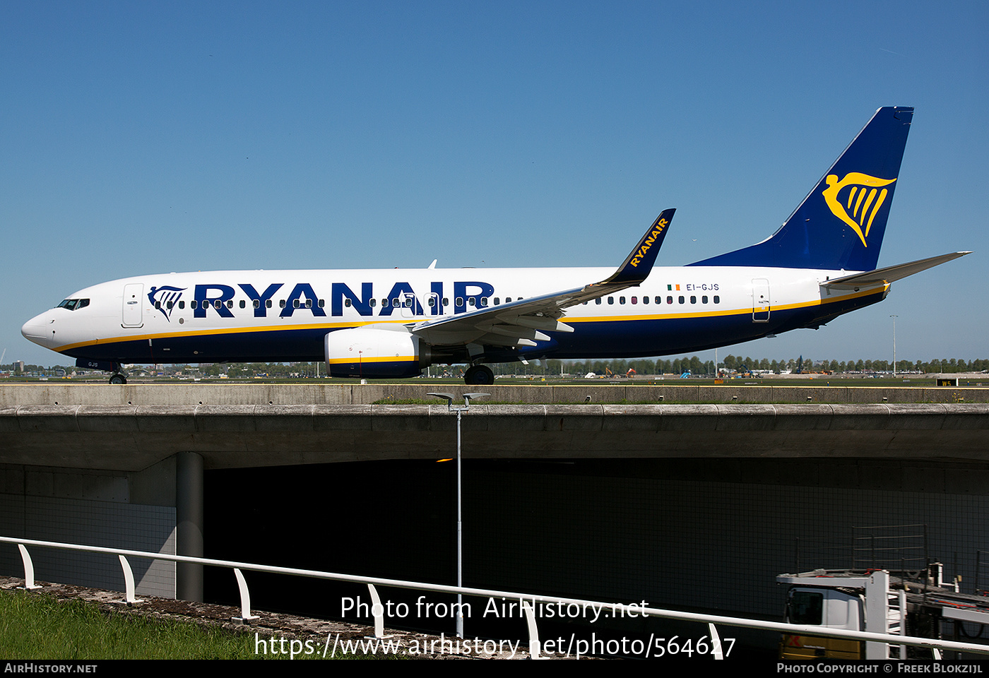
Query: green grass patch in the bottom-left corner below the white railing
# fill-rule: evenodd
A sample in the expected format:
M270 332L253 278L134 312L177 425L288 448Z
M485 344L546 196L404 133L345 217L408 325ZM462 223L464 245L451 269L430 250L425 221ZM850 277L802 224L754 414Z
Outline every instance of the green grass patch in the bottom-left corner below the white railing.
M19 659L263 659L254 634L105 614L80 600L0 591L0 656ZM267 658L285 658L288 654ZM297 656L306 658L305 656ZM337 658L344 658L337 655ZM347 658L373 658L349 655Z

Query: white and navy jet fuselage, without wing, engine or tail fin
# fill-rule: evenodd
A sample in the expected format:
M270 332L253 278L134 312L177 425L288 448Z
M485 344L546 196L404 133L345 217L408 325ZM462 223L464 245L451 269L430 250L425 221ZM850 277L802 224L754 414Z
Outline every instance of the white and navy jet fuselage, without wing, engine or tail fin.
M80 290L25 323L31 341L79 359L116 363L320 360L322 338L345 328L457 315L580 288L602 268L213 271L139 276ZM573 333L519 357L621 358L697 351L813 326L885 295L821 284L851 272L655 268L638 287L566 310ZM85 303L81 300L85 299ZM820 323L818 323L820 324ZM468 343L465 340L463 343ZM434 362L463 358L440 347Z

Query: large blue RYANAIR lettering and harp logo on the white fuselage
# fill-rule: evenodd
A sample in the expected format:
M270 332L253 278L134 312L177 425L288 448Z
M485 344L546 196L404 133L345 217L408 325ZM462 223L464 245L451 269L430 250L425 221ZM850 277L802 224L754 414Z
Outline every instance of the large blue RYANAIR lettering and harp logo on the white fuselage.
M291 287L290 287L291 286ZM320 286L325 288L325 286ZM453 298L444 297L444 283L429 284L429 294L417 294L412 286L398 282L391 286L387 295L376 296L373 283L361 283L360 290L355 291L346 283L331 283L329 285L328 301L325 289L317 294L311 283L272 283L263 290L258 290L250 283L239 283L236 287L213 283L196 285L193 288L193 298L189 306L193 316L205 318L219 315L224 318L235 316L234 311L240 308L248 309L256 318L292 317L296 313L312 313L314 317L340 316L344 309L351 307L359 315L378 315L411 317L416 315L446 315L451 312L466 313L469 310L487 306L488 297L494 295L494 286L481 281L459 281L453 283ZM171 288L171 297L162 303L154 297L155 289L148 297L155 302L155 307L163 311L170 319L171 310L175 304L179 308L185 306L181 293L188 288ZM178 294L176 294L178 293ZM452 304L451 304L452 301ZM326 308L326 306L329 308ZM167 312L165 312L167 311ZM328 311L328 313L327 313Z

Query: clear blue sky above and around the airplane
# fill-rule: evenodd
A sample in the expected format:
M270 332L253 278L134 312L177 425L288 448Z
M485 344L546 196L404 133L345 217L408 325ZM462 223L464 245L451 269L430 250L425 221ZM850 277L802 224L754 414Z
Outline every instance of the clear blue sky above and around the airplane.
M980 2L0 5L5 362L91 284L209 269L657 265L764 239L914 106L879 259L960 260L753 357L985 358ZM589 281L588 281L589 282ZM702 354L705 359L713 352Z

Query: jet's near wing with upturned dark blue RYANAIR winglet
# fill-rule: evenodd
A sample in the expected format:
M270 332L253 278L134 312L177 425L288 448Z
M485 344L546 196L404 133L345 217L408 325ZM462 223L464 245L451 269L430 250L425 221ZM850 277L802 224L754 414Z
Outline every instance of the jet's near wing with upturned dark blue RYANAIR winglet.
M573 332L573 327L560 322L567 308L641 285L649 277L674 212L676 211L666 210L656 217L618 270L599 283L541 297L518 299L436 320L424 320L411 325L411 332L434 346L467 343L536 346L536 342L550 339L540 330Z

